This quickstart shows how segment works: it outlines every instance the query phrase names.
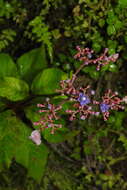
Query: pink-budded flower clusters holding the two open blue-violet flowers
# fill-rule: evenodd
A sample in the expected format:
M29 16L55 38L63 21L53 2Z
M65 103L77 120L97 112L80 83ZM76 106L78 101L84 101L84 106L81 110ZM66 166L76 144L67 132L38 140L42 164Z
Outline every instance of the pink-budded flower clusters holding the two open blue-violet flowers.
M71 80L68 81L70 82ZM64 81L62 84L64 84ZM63 87L63 85L61 85L61 87ZM69 90L69 88L64 88L60 91L61 93L64 92L64 94L68 95L70 100L74 101L72 106L73 109L66 110L66 113L71 115L70 121L76 119L76 115L79 115L80 119L84 120L90 115L98 116L100 113L102 113L103 118L106 121L109 117L110 110L124 109L124 106L121 104L124 99L120 99L117 92L108 90L105 95L102 96L102 100L96 101L92 98L95 91L90 90L90 86L77 90L71 83L71 89L73 89L73 91ZM89 93L87 93L88 89ZM94 111L92 108L93 105L99 105L99 111Z

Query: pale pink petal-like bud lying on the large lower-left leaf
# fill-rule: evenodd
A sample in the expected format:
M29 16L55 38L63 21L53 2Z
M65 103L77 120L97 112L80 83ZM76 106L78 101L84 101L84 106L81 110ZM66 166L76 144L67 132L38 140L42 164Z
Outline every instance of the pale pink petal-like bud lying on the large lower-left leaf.
M29 139L31 139L36 145L40 145L41 144L40 132L38 130L34 130L29 136Z

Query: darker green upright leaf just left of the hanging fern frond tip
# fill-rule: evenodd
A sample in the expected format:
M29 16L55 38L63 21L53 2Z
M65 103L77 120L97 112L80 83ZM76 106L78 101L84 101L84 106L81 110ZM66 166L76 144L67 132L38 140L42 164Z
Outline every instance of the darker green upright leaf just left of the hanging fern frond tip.
M23 54L17 64L21 78L31 83L38 72L47 66L44 46Z

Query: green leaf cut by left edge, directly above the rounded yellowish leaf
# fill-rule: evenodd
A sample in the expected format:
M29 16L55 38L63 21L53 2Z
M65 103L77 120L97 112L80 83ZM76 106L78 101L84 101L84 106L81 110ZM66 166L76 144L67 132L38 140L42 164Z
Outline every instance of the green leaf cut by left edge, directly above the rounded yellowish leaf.
M16 64L12 58L6 53L0 53L0 77L18 76Z

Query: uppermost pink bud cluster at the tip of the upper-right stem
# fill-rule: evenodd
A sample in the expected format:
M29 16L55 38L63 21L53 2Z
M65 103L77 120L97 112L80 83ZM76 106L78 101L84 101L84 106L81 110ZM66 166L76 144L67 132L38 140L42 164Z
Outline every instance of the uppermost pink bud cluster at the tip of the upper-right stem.
M97 58L92 58L94 51L90 50L89 48L81 49L79 46L76 48L78 50L78 53L74 56L74 58L83 61L84 66L91 64L97 65L98 71L100 70L101 66L107 65L110 62L116 62L119 57L118 53L108 56L108 48L106 48L104 50L104 53Z

